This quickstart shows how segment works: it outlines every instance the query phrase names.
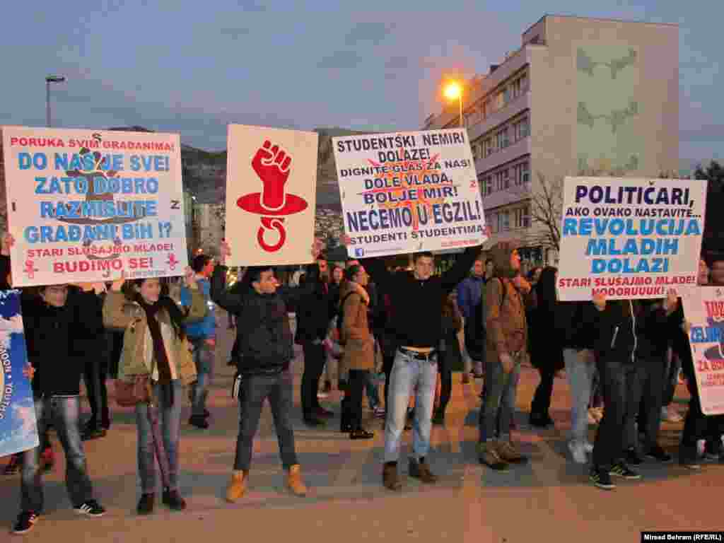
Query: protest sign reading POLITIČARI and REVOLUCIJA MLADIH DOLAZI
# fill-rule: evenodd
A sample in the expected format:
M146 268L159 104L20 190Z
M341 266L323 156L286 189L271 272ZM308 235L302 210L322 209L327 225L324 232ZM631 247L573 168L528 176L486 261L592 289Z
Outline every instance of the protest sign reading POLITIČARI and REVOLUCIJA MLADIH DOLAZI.
M707 182L566 177L561 301L663 298L696 285Z

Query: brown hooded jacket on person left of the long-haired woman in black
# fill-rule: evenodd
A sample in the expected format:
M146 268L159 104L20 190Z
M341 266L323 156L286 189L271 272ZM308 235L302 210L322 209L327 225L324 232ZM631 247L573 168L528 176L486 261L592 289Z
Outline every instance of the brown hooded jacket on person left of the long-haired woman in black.
M491 249L495 266L494 277L485 285L485 326L487 329L487 360L497 360L502 353L526 352L528 324L526 301L513 284L518 274L510 266L510 256L516 245L500 242ZM532 303L527 297L528 304Z

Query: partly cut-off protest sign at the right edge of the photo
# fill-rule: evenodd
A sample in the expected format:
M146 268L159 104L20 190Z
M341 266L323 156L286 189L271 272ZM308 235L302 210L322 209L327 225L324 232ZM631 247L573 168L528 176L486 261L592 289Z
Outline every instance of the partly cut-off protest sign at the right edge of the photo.
M724 414L724 288L694 287L681 299L702 413Z

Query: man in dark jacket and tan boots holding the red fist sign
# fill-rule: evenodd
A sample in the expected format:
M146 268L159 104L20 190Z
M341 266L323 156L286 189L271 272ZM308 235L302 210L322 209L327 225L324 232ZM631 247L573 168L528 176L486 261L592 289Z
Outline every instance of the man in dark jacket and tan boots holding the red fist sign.
M313 250L315 258L319 254ZM292 406L294 403L290 364L294 358L292 330L287 306L298 290L277 287L271 266L250 266L245 270L242 285L235 292L226 289L229 246L222 242L220 266L211 276L211 299L230 313L237 315L237 368L243 375L239 392L239 435L232 479L226 499L235 502L246 492L254 436L258 429L261 408L269 399L274 427L277 430L282 465L287 470L287 487L293 494L303 496L306 486L302 480L294 446Z

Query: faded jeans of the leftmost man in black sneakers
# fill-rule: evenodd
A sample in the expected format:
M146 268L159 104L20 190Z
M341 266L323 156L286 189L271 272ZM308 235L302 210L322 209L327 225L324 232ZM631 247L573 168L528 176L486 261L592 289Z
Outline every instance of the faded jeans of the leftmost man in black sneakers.
M93 500L93 487L88 478L83 442L80 441L77 396L35 398L35 418L38 434L43 435L52 423L65 452L65 487L74 508ZM43 511L43 484L40 468L41 447L22 453L20 477L20 508L24 511Z

